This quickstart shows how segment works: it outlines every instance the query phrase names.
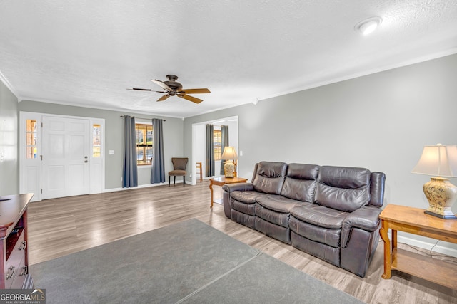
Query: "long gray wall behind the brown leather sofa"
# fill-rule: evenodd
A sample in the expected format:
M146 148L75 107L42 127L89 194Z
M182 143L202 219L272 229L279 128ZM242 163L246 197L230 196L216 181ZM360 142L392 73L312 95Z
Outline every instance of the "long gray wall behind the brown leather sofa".
M190 117L184 153L191 124L238 115L241 177L262 160L366 167L386 173L384 206L426 208L430 177L411 169L424 145L457 144L456 73L457 55L446 56Z

